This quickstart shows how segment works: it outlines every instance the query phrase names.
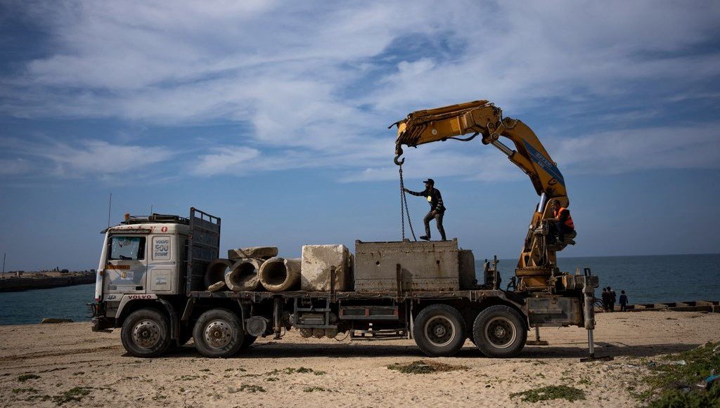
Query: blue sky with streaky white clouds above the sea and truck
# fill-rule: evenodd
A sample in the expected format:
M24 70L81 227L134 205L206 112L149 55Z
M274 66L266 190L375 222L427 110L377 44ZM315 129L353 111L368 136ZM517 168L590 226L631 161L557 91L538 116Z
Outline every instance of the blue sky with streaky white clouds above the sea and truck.
M716 1L1 0L0 253L96 268L108 214L193 206L222 250L399 240L387 127L477 99L558 163L578 233L559 255L718 253L719 21ZM538 197L505 155L405 158L462 248L519 254Z

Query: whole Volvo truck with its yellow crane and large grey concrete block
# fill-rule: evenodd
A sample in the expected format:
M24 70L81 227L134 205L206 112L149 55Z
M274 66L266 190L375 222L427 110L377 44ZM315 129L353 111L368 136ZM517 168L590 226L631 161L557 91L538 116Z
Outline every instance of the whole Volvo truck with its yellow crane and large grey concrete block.
M120 328L127 353L145 358L191 337L200 354L227 358L257 337L279 339L292 329L303 337L406 337L429 356L454 355L471 340L480 353L499 358L520 353L533 328L537 336L539 327L577 326L588 330L594 358L599 279L589 268L568 273L557 266L556 252L574 244L576 234L565 234L562 241L553 236L550 202L567 207L569 200L562 174L530 128L503 118L488 101L413 112L395 124L401 191L402 145L469 142L481 133L483 144L494 145L531 178L539 202L515 276L505 289L496 259L485 261L477 279L472 251L459 248L456 239L414 242L404 237L357 240L355 253L347 250L336 263L320 262L321 284L303 280L300 288L282 291L213 286L209 271L222 260L220 217L193 207L188 217L126 214L125 221L104 230L92 330ZM459 138L470 132L474 135ZM513 141L515 149L500 136ZM226 277L233 268L227 265ZM307 271L304 249L302 279ZM258 271L250 268L250 273Z

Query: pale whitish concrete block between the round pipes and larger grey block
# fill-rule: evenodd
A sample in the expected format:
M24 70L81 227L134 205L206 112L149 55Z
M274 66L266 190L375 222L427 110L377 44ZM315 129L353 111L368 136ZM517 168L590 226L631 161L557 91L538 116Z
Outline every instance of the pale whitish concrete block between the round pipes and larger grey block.
M352 290L353 262L345 245L303 245L300 289L330 291L330 270L335 267L335 290Z

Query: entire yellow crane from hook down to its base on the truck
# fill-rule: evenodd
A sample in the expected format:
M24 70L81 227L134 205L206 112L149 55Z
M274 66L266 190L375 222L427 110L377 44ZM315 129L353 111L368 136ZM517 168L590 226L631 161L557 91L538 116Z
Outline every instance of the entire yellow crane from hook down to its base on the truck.
M557 271L556 251L562 250L568 242L549 243L548 223L552 218L550 199L560 201L567 207L567 189L565 180L549 153L535 133L518 119L503 117L503 111L494 104L485 101L472 101L464 104L442 106L408 114L405 119L396 122L395 164L400 165L402 145L416 147L426 143L449 139L469 141L482 135L484 145L493 145L508 156L533 183L540 196L518 260L516 276L518 289L528 291L552 291L553 276ZM459 136L474 133L461 139ZM500 141L506 137L513 142L514 149ZM574 237L574 235L573 235ZM574 243L574 242L572 242Z

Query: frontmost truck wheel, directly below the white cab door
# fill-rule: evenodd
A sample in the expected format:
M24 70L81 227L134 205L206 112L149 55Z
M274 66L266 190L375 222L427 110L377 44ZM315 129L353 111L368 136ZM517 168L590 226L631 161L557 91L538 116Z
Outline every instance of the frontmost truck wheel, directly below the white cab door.
M138 309L122 322L122 346L135 357L157 357L170 347L170 322L156 309Z

